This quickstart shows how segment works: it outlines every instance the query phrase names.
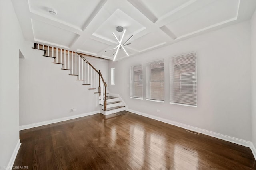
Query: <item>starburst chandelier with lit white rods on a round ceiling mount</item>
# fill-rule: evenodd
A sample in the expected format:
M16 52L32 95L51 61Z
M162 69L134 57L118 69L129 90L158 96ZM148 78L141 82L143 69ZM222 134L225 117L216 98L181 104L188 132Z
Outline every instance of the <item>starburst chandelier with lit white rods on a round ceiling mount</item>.
M121 33L123 30L124 30L124 33L123 33L123 35L122 35L122 38L120 38L120 37L121 37L121 36L120 36L120 33ZM124 49L124 46L131 44L131 43L128 43L128 44L127 44L127 42L128 42L128 41L132 38L132 36L133 36L133 35L131 35L130 38L128 38L128 39L123 43L123 45L122 45L122 40L123 40L123 38L124 38L124 34L125 34L125 31L126 31L126 30L125 30L123 27L118 26L118 27L116 27L116 31L119 32L119 40L118 40L118 38L116 37L116 35L114 34L114 32L112 32L112 34L114 35L114 37L115 37L116 40L118 41L118 45L117 45L115 48L112 48L112 49L110 49L110 50L107 50L107 51L112 51L112 50L116 49L116 52L115 52L114 54L112 54L112 57L113 57L113 55L115 55L113 61L115 61L116 55L117 55L119 49L123 49L124 52L126 53L126 55L129 56L128 53L126 52L126 50ZM105 52L107 52L107 51L105 51Z

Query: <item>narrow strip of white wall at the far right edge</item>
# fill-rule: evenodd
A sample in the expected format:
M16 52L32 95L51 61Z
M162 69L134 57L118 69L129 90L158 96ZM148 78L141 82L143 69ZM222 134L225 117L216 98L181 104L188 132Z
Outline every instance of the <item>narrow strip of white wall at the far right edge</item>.
M252 143L256 147L256 12L251 19L252 43Z

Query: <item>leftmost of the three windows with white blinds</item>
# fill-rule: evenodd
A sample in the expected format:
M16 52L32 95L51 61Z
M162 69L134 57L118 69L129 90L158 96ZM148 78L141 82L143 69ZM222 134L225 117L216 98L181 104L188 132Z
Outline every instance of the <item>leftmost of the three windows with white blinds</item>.
M131 67L131 91L132 98L143 98L143 72L142 64Z

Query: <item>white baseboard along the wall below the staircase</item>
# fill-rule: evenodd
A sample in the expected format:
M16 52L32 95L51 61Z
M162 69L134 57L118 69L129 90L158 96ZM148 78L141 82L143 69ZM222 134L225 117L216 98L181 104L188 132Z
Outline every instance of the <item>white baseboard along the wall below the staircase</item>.
M38 123L32 123L32 124L28 124L28 125L22 125L22 126L20 126L20 131L24 130L24 129L30 129L30 128L33 128L33 127L49 125L49 124L52 124L52 123L58 123L58 122L61 122L61 121L76 119L76 118L79 118L79 117L94 115L94 114L97 114L97 113L100 113L100 111L93 111L93 112L89 112L89 113L83 113L83 114L80 114L80 115L74 115L74 116L63 117L63 118L59 118L59 119L42 121L42 122L38 122Z

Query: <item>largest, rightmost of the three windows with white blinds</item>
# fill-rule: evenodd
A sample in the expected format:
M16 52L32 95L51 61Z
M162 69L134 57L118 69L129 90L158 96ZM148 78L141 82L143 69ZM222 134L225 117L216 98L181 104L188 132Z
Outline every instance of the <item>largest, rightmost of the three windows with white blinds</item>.
M170 103L197 105L196 53L170 58Z

